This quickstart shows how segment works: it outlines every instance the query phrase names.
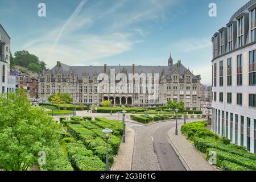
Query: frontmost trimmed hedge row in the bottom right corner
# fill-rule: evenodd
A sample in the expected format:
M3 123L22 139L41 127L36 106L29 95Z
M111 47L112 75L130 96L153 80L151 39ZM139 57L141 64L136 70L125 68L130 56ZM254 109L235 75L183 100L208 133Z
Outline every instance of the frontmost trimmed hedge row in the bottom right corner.
M239 166L243 166L243 167L249 168L251 170L256 170L255 160L243 158L242 156L230 154L229 152L217 150L216 148L208 148L207 149L207 153L206 153L207 159L210 158L210 156L208 155L210 151L216 152L218 167L222 167L223 162L226 160L228 162L235 163Z

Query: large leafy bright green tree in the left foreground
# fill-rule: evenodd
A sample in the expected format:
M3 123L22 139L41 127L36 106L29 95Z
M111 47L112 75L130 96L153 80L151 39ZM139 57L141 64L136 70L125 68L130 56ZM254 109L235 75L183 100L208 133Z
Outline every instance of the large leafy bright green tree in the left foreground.
M0 103L0 168L30 169L38 164L39 151L51 160L48 154L59 139L59 124L41 107L30 106L23 89L1 94Z

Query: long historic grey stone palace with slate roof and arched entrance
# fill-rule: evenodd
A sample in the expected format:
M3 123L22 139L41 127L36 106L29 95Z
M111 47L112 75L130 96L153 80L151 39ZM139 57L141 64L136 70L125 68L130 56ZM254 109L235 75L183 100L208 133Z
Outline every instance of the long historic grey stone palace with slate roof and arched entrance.
M142 92L143 84L139 82L130 93L129 88L124 93L99 93L98 75L106 73L110 75L110 69L115 69L115 74L145 73L159 74L158 86L154 88L156 95L154 100L150 99L151 92ZM127 76L128 77L128 76ZM185 68L181 61L173 64L172 57L168 60L168 66L69 66L57 61L57 65L51 70L43 71L39 77L39 101L46 100L52 93L69 93L74 101L80 104L100 104L103 100L112 101L113 105L132 106L160 106L166 105L168 100L183 101L187 109L200 109L200 75L193 75ZM115 82L118 82L115 80ZM128 82L128 81L127 81ZM154 82L154 79L153 79Z

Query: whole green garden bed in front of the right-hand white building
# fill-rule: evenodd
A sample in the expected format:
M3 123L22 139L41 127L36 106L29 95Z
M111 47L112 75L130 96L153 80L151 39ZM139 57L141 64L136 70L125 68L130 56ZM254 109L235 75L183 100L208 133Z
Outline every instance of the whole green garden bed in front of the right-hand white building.
M217 163L226 171L255 171L256 155L246 151L245 147L230 143L227 138L207 130L207 122L193 122L181 126L181 132L188 138L208 160L209 152L216 152Z

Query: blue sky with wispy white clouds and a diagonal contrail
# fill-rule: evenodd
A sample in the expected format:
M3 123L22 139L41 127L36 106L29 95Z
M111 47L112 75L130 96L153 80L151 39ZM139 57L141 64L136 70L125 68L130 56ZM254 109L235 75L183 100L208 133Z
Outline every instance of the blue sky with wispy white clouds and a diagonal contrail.
M68 65L167 65L211 84L212 35L249 0L0 0L11 52ZM38 16L45 3L46 16ZM216 3L217 16L209 16Z

